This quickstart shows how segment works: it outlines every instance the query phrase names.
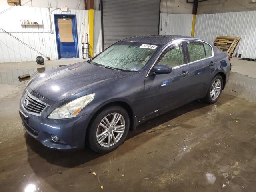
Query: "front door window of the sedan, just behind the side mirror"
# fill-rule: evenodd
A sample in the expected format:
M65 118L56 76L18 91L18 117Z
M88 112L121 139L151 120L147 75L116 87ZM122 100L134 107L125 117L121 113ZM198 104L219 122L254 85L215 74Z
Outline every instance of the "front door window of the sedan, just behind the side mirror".
M185 64L182 46L175 46L166 52L158 64L168 65L170 67L176 67Z

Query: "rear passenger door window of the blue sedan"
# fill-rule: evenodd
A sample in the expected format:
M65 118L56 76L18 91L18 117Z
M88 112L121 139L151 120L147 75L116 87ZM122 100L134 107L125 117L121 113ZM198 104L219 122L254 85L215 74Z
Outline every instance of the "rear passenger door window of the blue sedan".
M190 62L206 58L204 45L202 43L188 42L187 47L190 56Z

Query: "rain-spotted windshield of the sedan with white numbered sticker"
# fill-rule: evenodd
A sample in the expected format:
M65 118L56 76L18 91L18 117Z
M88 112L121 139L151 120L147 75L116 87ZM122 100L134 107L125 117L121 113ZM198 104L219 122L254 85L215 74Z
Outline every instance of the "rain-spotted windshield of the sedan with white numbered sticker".
M91 63L119 70L138 71L146 65L157 48L158 45L154 44L121 41L104 50Z

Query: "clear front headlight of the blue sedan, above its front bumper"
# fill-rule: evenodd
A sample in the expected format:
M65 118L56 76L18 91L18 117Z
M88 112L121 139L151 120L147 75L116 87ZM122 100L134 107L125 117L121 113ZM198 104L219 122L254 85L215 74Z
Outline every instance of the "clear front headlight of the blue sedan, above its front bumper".
M78 113L94 99L94 93L79 97L67 104L56 108L48 119L65 119L76 117Z

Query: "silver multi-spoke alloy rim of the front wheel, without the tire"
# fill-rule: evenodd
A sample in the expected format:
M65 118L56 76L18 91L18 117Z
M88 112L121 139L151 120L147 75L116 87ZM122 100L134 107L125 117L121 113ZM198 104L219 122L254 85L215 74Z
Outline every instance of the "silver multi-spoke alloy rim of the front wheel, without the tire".
M119 113L105 116L98 125L96 138L100 146L110 147L123 136L125 129L124 117Z

